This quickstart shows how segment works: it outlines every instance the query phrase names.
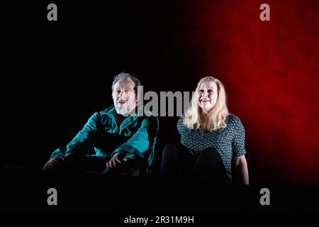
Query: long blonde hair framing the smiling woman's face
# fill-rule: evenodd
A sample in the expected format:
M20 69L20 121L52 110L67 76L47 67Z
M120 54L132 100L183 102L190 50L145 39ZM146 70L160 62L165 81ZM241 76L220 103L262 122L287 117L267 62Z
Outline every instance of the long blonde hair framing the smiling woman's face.
M195 94L191 98L191 104L185 113L183 122L189 128L197 129L199 126L201 126L201 122L203 122L203 113L201 107L198 105L198 91L203 82L215 82L218 89L216 104L208 113L208 125L210 126L210 131L215 131L218 128L225 128L226 118L229 115L226 104L226 93L222 82L215 77L204 77L198 82Z

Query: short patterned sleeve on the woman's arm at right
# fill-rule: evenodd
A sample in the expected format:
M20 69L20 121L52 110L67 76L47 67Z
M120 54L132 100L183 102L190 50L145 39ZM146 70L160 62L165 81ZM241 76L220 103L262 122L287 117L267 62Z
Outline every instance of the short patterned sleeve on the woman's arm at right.
M235 117L234 138L233 138L233 155L242 156L246 154L245 149L245 128L240 118Z

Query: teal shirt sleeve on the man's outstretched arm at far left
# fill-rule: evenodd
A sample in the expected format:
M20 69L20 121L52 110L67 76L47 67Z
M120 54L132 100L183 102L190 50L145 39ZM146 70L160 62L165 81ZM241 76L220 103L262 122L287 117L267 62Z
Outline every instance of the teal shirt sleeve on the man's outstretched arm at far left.
M94 146L100 121L100 114L96 112L89 118L89 121L87 121L85 126L77 133L73 140L67 144L67 147L57 148L57 150L52 153L51 158L65 155L70 152L82 154L88 153Z

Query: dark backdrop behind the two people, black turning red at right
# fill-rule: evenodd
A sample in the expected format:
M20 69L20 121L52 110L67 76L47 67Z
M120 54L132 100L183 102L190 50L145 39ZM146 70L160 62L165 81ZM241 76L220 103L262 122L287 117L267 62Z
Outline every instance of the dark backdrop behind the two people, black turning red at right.
M136 74L145 91L225 85L246 130L250 182L319 184L319 1L54 1L4 4L3 168L40 170L91 114L112 104L111 82ZM154 175L176 117L159 118Z

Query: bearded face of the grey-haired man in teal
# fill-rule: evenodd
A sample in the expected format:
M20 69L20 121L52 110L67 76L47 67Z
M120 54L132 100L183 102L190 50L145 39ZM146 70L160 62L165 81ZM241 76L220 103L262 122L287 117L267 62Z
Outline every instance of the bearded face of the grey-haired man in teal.
M134 86L134 82L130 79L119 80L114 84L112 96L116 113L128 116L135 109L137 99Z

